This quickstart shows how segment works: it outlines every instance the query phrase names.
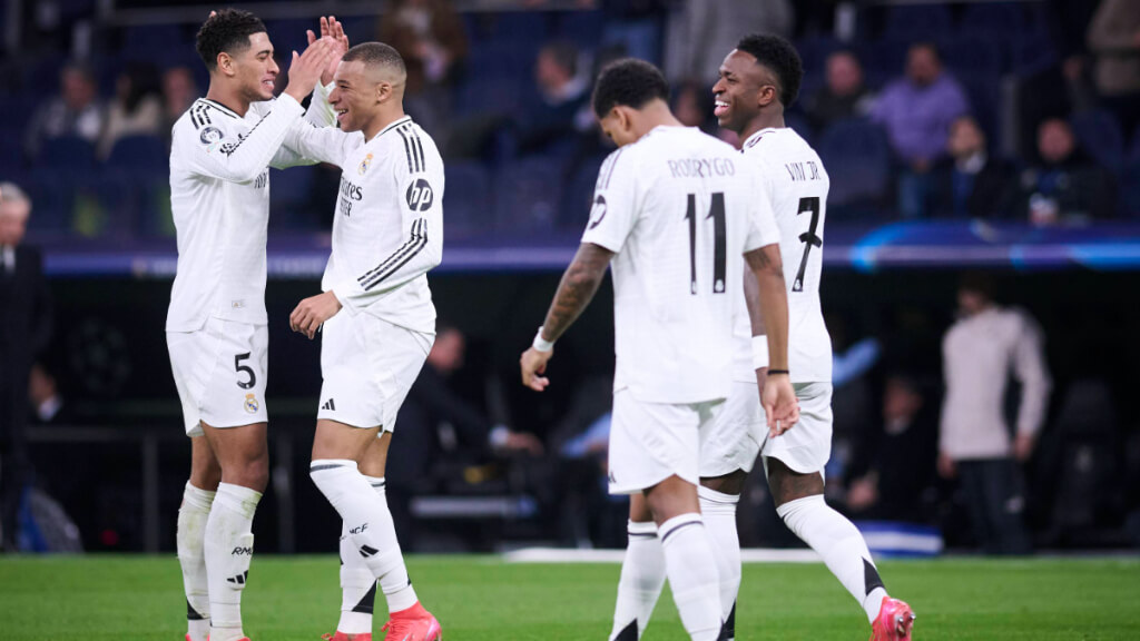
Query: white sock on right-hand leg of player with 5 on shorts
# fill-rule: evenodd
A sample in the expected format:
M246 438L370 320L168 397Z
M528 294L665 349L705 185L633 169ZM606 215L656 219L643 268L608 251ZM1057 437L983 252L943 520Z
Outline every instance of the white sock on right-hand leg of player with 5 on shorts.
M253 513L261 493L228 482L218 486L206 521L205 565L210 585L210 641L236 641L242 633L242 590L253 558Z

